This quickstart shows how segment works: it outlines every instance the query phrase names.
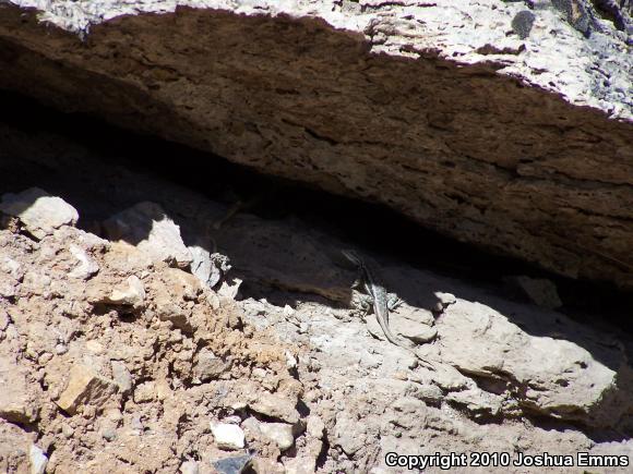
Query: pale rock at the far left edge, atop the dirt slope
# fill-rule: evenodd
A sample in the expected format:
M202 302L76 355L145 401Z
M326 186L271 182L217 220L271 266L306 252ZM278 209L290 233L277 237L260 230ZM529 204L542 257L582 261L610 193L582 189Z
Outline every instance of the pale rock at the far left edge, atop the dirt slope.
M2 195L0 210L20 218L24 228L37 239L52 234L62 226L74 226L79 219L74 207L39 187Z

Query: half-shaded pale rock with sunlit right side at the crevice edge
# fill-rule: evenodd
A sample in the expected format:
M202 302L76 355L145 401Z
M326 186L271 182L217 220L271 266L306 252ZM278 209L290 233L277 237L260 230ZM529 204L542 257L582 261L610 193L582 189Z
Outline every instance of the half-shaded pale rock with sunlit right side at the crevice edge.
M104 222L110 240L136 245L155 262L178 267L191 263L191 254L180 236L180 228L155 203L139 203Z

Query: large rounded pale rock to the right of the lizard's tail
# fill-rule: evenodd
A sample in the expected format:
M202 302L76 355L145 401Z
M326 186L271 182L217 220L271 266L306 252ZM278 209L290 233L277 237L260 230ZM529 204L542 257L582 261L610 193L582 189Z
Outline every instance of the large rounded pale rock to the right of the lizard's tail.
M548 314L541 317L530 324L545 327ZM616 423L633 406L624 402L630 392L616 396L631 390L625 374L571 341L530 336L494 309L463 301L441 324L442 343L452 348L444 352L447 361L465 374L505 381L528 412L600 426Z

